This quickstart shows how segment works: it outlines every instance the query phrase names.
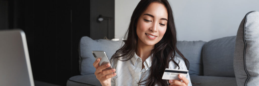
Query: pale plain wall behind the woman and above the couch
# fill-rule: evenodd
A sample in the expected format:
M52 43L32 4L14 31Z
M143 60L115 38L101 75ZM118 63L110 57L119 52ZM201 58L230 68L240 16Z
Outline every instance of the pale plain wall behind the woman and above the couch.
M115 0L115 38L123 38L139 0ZM179 41L210 41L234 36L258 0L169 0Z

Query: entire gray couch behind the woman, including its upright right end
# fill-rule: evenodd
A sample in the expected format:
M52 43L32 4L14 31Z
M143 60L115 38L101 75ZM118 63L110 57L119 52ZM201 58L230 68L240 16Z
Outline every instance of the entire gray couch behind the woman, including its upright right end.
M191 82L195 83L192 84L193 86L246 85L245 80L249 85L259 85L259 68L252 65L259 64L259 12L249 13L240 24L238 38L229 36L209 42L178 41L177 48L190 62L189 74ZM237 44L236 40L239 41ZM246 47L243 47L243 43L247 45L247 49L244 49ZM110 58L121 45L123 45L122 41L92 40L87 36L82 37L79 45L81 75L71 77L67 81L67 86L101 85L94 75L95 68L92 64L95 59L91 51L105 51ZM245 54L247 56L244 58L245 60L243 59L245 57L243 54L239 55L243 51L249 52ZM249 57L249 55L253 56ZM251 63L254 59L255 61ZM250 62L250 64L245 65L247 67L245 70L248 70L247 74L250 75L250 80L248 79L249 77L246 77L247 74L243 72L244 69L242 69L244 68L242 61L246 63L244 62L246 60ZM235 62L234 65L233 62ZM236 81L240 82L237 84Z

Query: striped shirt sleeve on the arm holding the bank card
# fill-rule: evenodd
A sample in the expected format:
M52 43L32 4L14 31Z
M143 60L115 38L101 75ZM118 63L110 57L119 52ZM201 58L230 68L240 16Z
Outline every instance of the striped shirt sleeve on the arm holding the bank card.
M174 58L174 61L175 61L176 63L178 63L178 65L179 65L179 67L180 67L179 69L181 69L181 70L188 70L187 67L186 67L186 65L185 65L184 60L183 60L181 57L177 57L177 56L176 56L176 57ZM178 69L178 66L177 66L173 61L170 61L170 62L169 62L169 68L171 68L171 69ZM187 75L186 75L186 79L189 80L188 86L192 86L189 72L188 72Z

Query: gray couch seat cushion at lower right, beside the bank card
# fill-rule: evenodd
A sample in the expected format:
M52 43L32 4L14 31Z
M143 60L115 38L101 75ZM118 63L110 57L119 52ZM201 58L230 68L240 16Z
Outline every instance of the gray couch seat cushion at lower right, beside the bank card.
M236 86L235 77L190 76L190 78L192 86Z

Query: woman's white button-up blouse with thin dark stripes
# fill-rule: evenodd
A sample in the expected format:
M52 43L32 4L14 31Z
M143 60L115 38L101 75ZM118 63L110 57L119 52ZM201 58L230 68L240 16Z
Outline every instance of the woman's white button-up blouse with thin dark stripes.
M113 68L116 68L116 79L111 79L112 86L138 86L139 81L146 80L150 75L151 67L151 57L149 56L144 61L144 68L142 69L142 60L136 54L135 57L132 57L127 61L120 60L111 60L111 65ZM121 60L126 60L127 58L120 58ZM180 57L175 57L174 61L178 63L181 70L187 70L184 60ZM169 62L169 68L178 69L178 66L174 64L173 61ZM188 86L192 86L189 73L187 73L186 78L189 80ZM143 84L146 82L142 82ZM157 83L156 85L160 86L161 84Z

